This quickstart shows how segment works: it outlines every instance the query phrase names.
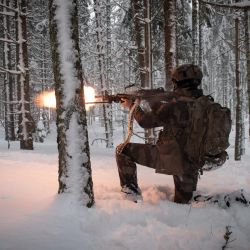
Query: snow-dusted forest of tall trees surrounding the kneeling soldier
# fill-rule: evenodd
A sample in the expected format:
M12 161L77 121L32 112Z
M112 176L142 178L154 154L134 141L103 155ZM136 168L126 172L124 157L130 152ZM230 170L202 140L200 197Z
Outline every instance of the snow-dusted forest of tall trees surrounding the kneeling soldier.
M173 68L193 63L203 71L204 93L231 110L234 158L241 160L250 133L249 9L240 0L1 0L3 139L33 150L56 121L59 176L79 165L91 206L88 124L100 119L103 135L96 140L113 148L114 127L126 134L128 114L117 104L85 107L83 86L97 95L128 86L171 90ZM55 91L56 109L38 104L46 91ZM59 178L59 192L65 189Z

